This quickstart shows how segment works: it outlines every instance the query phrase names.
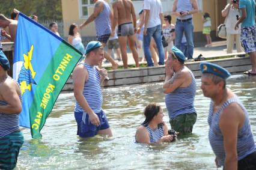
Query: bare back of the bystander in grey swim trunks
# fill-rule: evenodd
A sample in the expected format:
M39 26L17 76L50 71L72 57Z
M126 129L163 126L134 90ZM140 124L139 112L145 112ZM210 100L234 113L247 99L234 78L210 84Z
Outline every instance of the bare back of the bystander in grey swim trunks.
M133 4L130 0L117 0L113 5L115 5L118 11L118 25L132 22Z

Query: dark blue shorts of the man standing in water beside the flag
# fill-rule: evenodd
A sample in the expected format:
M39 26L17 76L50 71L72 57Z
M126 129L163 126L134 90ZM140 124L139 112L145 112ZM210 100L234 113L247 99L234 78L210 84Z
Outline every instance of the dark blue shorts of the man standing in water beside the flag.
M83 121L84 115L84 121ZM89 120L89 115L84 114L83 112L75 112L76 123L78 124L78 133L82 138L93 137L97 135L99 130L108 129L110 126L108 124L108 119L106 118L106 114L103 111L96 113L100 120L100 125L96 126L91 123Z

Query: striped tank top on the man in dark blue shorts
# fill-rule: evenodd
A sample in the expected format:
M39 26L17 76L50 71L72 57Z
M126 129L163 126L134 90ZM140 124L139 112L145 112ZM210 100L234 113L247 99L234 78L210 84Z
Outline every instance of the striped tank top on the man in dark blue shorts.
M102 90L100 88L100 73L96 67L87 63L83 64L89 74L89 78L84 84L83 94L94 113L99 113L102 110L103 102ZM85 112L78 102L76 102L75 112Z

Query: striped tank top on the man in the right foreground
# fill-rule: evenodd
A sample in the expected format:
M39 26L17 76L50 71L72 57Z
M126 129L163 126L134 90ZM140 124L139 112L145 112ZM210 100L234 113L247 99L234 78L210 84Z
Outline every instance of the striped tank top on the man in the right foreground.
M230 103L237 103L245 113L245 123L243 127L238 131L237 134L237 156L238 160L243 159L248 156L252 152L256 151L254 136L252 135L251 126L249 123L248 113L240 102L237 96L228 99L218 110L218 112L213 114L213 101L210 103L210 111L208 117L208 124L210 126L209 129L209 141L212 146L213 152L215 153L218 162L221 166L224 165L225 162L225 149L224 149L224 141L223 135L221 133L221 129L219 129L219 118L221 117L222 111L230 105Z

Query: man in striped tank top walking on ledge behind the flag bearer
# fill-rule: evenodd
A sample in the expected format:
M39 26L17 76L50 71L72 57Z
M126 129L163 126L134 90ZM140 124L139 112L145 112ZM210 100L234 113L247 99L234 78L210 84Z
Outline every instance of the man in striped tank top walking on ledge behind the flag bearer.
M91 14L88 19L82 23L79 28L82 29L88 23L93 22L95 23L96 28L96 36L97 41L102 43L102 46L105 47L108 41L108 38L111 34L111 19L112 19L112 12L107 2L103 0L93 0L95 3L93 14ZM112 64L112 69L117 69L118 64L111 58L111 56L104 51L104 57L108 59L109 62ZM99 64L99 67L102 66L102 61Z

